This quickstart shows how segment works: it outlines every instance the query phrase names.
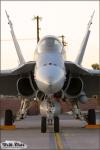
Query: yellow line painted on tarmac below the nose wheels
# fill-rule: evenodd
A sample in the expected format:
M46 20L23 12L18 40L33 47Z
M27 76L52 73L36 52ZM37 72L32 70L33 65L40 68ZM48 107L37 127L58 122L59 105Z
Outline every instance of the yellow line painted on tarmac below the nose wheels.
M56 141L57 150L64 150L64 146L63 146L60 134L59 133L55 133L54 135L55 135L55 141Z

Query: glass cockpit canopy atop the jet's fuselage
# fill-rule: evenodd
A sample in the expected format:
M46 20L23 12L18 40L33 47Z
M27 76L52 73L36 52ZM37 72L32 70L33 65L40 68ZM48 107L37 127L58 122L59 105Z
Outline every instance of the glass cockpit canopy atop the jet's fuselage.
M62 43L53 36L48 36L40 40L38 44L38 53L43 52L62 52Z

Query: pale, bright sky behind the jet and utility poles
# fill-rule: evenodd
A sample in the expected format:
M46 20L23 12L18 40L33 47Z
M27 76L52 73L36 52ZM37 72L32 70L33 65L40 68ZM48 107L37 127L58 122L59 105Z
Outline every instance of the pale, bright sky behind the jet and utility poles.
M36 47L36 21L39 15L40 38L65 36L67 60L74 61L95 10L91 33L82 66L99 63L99 1L1 1L1 69L18 66L18 57L6 18L7 10L26 61L33 60Z

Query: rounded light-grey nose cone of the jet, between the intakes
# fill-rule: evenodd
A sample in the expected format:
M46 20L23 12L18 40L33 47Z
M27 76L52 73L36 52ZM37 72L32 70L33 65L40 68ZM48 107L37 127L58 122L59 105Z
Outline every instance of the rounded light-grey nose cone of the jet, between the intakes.
M37 86L46 94L53 94L61 90L64 78L64 71L57 66L42 67L36 73Z

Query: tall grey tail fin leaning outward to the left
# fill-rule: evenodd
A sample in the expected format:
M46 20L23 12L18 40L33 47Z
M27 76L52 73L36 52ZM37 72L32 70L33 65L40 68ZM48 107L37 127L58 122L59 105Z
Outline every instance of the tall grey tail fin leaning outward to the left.
M11 20L9 19L9 15L8 15L6 10L5 10L5 12L6 12L6 16L8 18L8 24L9 24L10 29L11 29L11 35L12 35L12 39L13 39L13 42L14 42L14 45L15 45L15 48L16 48L18 58L19 58L19 62L20 62L20 64L24 64L25 60L23 58L20 46L19 46L18 41L17 41L16 36L15 36L14 30L13 30L13 24L12 24Z

